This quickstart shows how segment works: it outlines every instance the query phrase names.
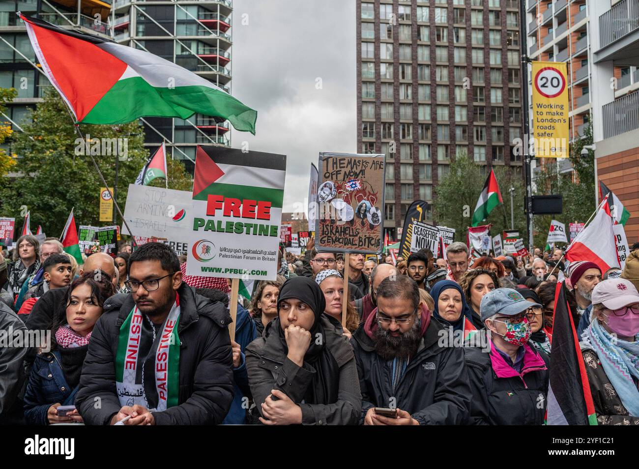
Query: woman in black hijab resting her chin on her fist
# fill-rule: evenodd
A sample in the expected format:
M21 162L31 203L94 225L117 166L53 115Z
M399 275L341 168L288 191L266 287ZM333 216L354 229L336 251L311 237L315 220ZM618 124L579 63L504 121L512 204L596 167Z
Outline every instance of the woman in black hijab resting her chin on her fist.
M355 355L322 314L318 284L288 279L277 301L277 318L246 349L252 417L265 425L357 425L362 396Z

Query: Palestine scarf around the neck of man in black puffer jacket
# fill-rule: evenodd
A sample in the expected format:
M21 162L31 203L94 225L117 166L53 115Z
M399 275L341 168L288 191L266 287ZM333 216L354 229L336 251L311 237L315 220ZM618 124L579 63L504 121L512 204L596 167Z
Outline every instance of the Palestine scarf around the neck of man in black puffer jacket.
M180 390L180 296L156 334L151 320L134 305L120 327L116 355L116 389L121 406L140 404L149 410L163 411L178 405ZM144 323L148 323L145 324ZM150 327L148 327L150 325ZM151 343L148 346L149 342ZM144 381L144 364L153 358L154 385ZM147 375L149 376L149 375ZM153 392L151 408L147 392Z

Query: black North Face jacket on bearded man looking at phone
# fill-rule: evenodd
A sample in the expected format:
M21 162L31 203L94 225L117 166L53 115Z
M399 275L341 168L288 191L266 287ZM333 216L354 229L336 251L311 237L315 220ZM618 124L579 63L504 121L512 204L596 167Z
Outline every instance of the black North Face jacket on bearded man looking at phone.
M427 323L427 313L422 309L422 342L393 393L389 368L371 338L376 314L374 309L351 339L362 389L360 424L371 407L389 406L407 411L420 425L466 424L470 386L463 350L440 347L443 326L432 319Z

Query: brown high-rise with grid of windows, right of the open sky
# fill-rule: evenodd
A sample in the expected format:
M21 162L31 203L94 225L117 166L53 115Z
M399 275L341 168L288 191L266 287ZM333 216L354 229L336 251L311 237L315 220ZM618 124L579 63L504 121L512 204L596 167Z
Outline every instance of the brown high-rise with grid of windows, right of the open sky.
M516 0L357 0L358 150L387 155L391 236L456 155L521 174L519 15Z

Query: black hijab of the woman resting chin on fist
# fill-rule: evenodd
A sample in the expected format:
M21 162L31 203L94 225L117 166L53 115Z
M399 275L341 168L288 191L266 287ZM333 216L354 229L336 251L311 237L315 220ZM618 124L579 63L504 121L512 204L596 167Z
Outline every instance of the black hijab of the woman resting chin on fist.
M284 330L279 319L279 308L282 300L296 298L309 305L315 315L311 327L311 345L304 355L304 363L315 369L311 383L304 394L307 404L334 404L337 402L339 390L339 365L335 357L326 346L326 334L320 318L326 309L326 300L318 284L309 277L293 277L282 285L277 297L278 317L272 321L272 330L277 330L279 340L284 348L284 355L288 354L288 346ZM321 339L318 335L321 335ZM320 340L318 340L320 339Z

